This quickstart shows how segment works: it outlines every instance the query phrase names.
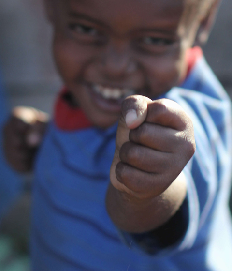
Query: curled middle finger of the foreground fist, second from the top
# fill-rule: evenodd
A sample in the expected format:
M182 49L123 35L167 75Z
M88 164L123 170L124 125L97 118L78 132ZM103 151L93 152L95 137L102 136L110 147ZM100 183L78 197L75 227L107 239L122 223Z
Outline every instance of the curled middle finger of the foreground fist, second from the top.
M144 122L129 133L131 142L163 152L174 152L181 144L182 137L182 132L149 122Z

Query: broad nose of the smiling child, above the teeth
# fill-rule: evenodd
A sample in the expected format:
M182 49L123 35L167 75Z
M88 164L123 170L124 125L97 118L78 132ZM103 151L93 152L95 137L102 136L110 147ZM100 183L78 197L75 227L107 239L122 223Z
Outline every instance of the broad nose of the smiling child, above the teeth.
M116 80L131 75L137 66L127 45L111 43L102 54L102 69L107 79Z

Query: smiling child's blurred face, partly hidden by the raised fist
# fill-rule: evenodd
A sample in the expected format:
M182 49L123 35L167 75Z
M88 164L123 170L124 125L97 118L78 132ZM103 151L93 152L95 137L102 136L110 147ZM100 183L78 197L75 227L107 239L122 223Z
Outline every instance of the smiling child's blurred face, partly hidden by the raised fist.
M65 85L99 127L115 123L122 100L156 98L186 75L185 0L54 0L54 55Z

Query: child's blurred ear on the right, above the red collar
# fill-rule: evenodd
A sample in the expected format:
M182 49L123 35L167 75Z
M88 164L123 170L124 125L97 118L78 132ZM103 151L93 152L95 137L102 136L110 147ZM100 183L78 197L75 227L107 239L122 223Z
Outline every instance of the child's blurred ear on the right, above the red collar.
M201 46L207 42L210 31L214 25L220 3L221 0L215 0L206 15L203 16L200 22L200 27L198 29L194 45Z

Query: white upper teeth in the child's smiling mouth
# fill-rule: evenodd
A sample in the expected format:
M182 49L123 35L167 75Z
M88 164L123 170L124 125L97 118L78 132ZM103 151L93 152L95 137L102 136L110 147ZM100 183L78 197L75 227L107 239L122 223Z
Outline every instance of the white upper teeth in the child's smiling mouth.
M94 85L93 89L101 94L105 99L120 99L126 98L127 96L135 94L134 90L130 89L116 89L116 88L105 88L102 85Z

